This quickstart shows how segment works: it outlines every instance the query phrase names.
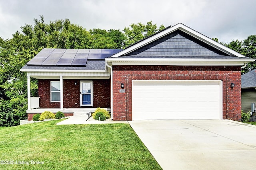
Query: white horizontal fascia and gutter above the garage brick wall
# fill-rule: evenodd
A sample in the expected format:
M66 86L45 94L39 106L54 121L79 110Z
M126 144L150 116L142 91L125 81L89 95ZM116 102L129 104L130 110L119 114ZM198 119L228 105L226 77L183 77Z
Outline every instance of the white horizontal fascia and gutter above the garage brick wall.
M113 59L112 65L242 66L255 59Z

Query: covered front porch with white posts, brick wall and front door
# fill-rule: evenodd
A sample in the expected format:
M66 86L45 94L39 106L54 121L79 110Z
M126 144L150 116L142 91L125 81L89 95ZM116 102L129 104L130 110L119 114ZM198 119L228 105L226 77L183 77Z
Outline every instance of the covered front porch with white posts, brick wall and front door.
M52 113L62 111L65 116L72 116L77 112L94 112L97 107L110 111L110 73L85 70L79 70L79 72L30 70L27 72L27 78L28 110L26 112L28 119L44 111ZM36 97L31 96L30 93L31 78L38 80L38 96ZM59 87L56 88L52 82L58 82ZM58 93L58 97L54 93Z

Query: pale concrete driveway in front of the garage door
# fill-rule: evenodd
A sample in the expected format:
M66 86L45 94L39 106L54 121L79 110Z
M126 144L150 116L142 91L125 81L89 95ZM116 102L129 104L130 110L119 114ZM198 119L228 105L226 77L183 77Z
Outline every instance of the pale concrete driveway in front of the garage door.
M256 126L230 120L129 121L164 170L256 169Z

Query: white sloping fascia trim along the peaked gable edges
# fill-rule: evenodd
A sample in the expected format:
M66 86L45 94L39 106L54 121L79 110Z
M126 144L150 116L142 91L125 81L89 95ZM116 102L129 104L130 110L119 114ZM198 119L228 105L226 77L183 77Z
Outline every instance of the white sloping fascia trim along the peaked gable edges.
M137 43L127 49L124 49L123 51L120 51L119 53L112 55L112 57L119 57L122 55L126 55L127 53L130 53L140 47L143 47L144 45L147 45L148 43L151 43L153 41L155 41L156 39L159 39L161 37L164 37L165 35L176 31L177 29L180 29L182 31L184 31L185 33L188 33L189 35L191 35L192 37L195 37L201 41L203 41L204 43L207 43L209 45L211 45L212 47L217 48L220 51L223 51L224 53L227 53L229 55L234 55L237 57L245 57L244 55L241 55L240 53L237 53L236 51L214 41L213 39L210 39L209 37L206 37L205 35L195 31L194 29L191 29L190 27L187 27L186 25L182 24L182 23L178 23L152 37L149 37L147 39L144 39L143 41L141 41L140 43Z

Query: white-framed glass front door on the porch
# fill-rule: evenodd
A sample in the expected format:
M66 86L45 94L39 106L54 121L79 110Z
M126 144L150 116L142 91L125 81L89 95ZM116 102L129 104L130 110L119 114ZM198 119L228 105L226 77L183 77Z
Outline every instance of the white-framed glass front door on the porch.
M80 106L92 106L92 81L80 81Z

